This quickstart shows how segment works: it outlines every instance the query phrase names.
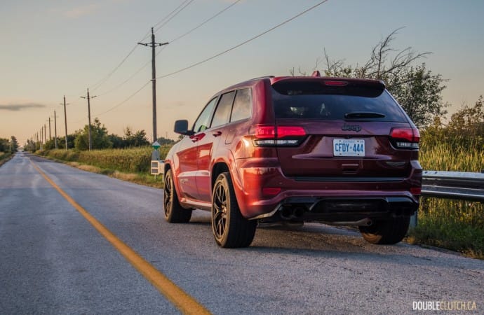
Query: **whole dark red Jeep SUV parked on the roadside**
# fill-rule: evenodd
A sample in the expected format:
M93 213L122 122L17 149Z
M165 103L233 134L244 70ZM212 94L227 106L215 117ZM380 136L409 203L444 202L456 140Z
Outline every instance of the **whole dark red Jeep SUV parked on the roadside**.
M419 207L419 131L379 80L268 76L215 94L165 161L164 211L211 211L215 241L249 246L257 222L358 225L395 244Z

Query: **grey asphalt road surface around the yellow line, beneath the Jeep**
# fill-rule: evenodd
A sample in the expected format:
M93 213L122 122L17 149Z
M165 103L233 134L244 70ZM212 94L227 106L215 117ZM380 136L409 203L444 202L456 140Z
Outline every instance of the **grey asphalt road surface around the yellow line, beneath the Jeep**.
M376 246L316 223L259 228L249 248L223 249L207 212L169 224L159 189L26 153L0 167L0 314L180 313L31 160L213 314L410 314L429 301L465 302L473 308L466 314L484 314L482 260L403 243Z

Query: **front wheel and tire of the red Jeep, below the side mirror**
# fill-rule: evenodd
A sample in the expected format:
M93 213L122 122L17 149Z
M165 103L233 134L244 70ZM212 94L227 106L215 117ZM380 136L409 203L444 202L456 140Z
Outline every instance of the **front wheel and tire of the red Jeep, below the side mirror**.
M163 209L165 220L169 223L187 223L191 218L191 209L184 209L178 201L177 190L173 183L171 169L165 174L165 188L163 189Z

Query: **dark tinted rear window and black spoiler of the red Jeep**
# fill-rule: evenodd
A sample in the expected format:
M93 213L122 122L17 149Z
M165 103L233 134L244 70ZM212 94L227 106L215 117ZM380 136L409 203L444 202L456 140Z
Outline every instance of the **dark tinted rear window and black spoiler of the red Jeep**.
M407 122L401 107L382 86L324 86L319 81L285 81L273 85L272 100L276 118ZM348 118L349 113L379 115Z

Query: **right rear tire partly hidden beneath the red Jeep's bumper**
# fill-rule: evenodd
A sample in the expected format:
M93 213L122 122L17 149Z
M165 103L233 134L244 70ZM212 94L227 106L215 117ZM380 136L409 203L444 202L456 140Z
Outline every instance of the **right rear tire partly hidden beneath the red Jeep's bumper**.
M396 244L405 237L410 224L410 216L373 221L370 226L360 226L363 239L371 244Z

